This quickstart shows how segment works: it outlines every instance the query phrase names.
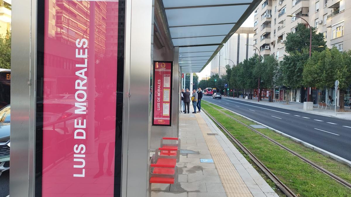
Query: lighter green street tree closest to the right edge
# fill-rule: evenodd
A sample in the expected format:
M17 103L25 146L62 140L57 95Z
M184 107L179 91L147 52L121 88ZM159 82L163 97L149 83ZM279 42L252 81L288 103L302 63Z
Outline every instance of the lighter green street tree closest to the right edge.
M344 95L351 83L351 52L340 52L336 47L314 52L305 63L303 82L309 87L322 89L334 86L339 80L340 111L345 111Z

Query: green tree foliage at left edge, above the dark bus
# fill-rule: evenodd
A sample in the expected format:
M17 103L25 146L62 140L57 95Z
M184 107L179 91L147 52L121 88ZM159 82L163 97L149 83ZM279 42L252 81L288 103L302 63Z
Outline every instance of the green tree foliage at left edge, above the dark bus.
M0 35L0 68L11 69L11 32Z

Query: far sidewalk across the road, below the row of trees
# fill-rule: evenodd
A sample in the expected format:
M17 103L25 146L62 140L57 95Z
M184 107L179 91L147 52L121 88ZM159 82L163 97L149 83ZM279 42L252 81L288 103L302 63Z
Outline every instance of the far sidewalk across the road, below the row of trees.
M283 101L283 103L275 103L275 102L268 102L268 99L264 99L260 102L257 102L257 99L252 99L252 100L241 99L241 96L239 96L239 98L233 98L233 97L223 97L223 98L251 102L251 103L272 106L272 107L278 107L278 108L283 108L283 109L290 109L290 110L295 110L295 111L302 111L302 112L306 112L306 113L310 113L310 114L318 114L318 115L322 115L322 116L329 116L329 117L336 117L336 118L351 120L350 107L345 107L346 112L339 112L338 111L339 107L336 107L336 115L335 115L335 111L334 111L335 106L332 106L331 109L329 107L328 107L328 109L325 109L325 108L321 109L321 107L319 107L319 109L318 109L318 104L314 104L312 111L306 111L306 110L304 110L304 104L297 103L297 102L289 102L289 104L286 104L285 101Z

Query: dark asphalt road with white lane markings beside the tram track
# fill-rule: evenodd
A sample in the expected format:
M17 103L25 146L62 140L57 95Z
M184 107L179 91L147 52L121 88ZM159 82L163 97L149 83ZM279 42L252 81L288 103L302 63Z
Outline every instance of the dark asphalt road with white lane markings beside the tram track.
M351 121L227 99L212 102L351 161Z

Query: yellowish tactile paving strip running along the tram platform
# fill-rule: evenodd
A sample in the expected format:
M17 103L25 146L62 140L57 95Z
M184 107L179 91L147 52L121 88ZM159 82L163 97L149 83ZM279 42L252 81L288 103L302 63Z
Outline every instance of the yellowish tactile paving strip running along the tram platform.
M241 179L238 171L224 152L223 148L216 139L216 136L207 135L212 133L207 127L205 120L200 114L196 115L199 127L205 138L208 150L210 150L211 156L214 161L214 165L217 168L219 178L223 184L225 193L228 197L244 197L252 196L249 188L247 188L243 179Z

